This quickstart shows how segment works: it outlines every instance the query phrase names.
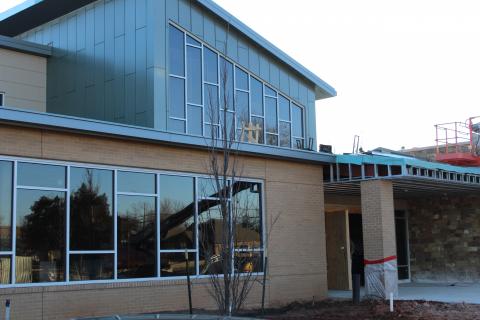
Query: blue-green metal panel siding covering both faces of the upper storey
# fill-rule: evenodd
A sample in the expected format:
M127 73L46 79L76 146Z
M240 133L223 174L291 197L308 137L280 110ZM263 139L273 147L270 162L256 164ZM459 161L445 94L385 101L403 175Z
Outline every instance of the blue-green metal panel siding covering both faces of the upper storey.
M315 137L314 84L191 0L98 0L21 35L55 47L47 110L165 130L169 21L301 103L306 136ZM68 93L75 99L66 109Z

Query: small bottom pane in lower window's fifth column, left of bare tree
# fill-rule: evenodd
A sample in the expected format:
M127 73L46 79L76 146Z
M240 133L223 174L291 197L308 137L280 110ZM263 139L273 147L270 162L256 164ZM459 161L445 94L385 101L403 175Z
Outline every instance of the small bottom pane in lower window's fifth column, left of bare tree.
M178 277L187 275L185 252L160 253L160 275L162 277ZM188 253L188 274L196 274L195 253Z

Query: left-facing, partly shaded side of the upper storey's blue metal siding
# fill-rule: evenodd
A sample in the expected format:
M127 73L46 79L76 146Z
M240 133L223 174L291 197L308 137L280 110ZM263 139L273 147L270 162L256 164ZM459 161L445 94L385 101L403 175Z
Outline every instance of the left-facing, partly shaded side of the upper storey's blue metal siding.
M147 5L154 2L161 3L155 7L160 12L149 13ZM162 41L160 56L165 48L165 37L147 40L165 31L163 23L147 32L155 14L165 16L164 0L99 0L20 35L54 48L48 62L47 111L153 127L147 43Z

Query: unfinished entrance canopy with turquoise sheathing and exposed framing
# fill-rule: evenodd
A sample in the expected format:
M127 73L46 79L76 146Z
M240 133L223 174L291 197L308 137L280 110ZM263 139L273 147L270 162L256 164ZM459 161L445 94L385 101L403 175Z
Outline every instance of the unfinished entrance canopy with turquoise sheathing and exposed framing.
M399 153L370 152L337 155L324 166L327 194L360 195L360 182L391 180L396 198L426 193L480 191L480 167L460 167L421 160Z

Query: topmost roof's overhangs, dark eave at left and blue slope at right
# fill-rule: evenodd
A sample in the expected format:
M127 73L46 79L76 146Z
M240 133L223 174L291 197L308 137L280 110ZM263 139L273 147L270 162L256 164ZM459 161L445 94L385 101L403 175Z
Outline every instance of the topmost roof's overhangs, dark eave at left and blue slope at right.
M11 37L19 35L94 1L95 0L27 0L0 14L0 34ZM330 98L337 95L337 92L332 86L277 48L271 42L250 29L247 25L212 0L197 0L197 2L219 18L228 22L232 27L244 34L258 46L264 48L275 58L285 63L301 77L311 82L315 86L316 100Z

